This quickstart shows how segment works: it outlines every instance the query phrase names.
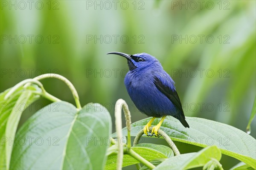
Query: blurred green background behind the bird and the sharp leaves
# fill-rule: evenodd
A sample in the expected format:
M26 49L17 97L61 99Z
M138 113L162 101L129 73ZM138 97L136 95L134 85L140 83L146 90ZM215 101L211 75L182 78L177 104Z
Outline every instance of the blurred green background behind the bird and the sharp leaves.
M126 60L106 53L146 52L176 82L186 116L246 128L256 96L254 0L2 0L0 22L0 92L23 79L61 74L76 87L81 105L98 102L113 119L114 103L122 98L135 122L146 116L126 92ZM75 104L63 82L42 83L50 94ZM41 99L29 107L20 125L47 104ZM255 119L250 135L256 137ZM181 153L200 149L177 144ZM237 162L221 159L224 169Z

